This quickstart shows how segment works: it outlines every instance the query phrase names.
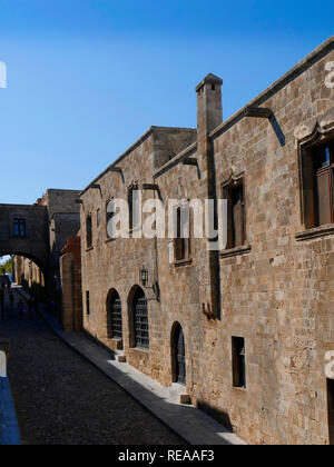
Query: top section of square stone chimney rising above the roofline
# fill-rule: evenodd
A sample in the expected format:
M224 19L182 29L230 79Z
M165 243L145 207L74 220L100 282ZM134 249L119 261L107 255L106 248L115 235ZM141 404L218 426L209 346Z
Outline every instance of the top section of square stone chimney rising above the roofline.
M196 87L199 135L209 133L223 122L222 86L223 80L209 73Z

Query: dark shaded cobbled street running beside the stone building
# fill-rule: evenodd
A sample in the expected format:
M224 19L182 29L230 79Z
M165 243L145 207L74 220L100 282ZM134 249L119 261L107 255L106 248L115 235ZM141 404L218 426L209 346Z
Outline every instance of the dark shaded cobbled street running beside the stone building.
M9 378L24 445L180 445L183 440L40 316L20 320L6 291L1 334L12 340Z

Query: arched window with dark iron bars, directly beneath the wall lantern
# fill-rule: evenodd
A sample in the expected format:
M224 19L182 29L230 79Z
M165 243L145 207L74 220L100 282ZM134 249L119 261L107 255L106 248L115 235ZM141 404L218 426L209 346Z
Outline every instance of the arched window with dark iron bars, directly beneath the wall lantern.
M149 349L148 305L146 294L134 286L128 296L129 346Z

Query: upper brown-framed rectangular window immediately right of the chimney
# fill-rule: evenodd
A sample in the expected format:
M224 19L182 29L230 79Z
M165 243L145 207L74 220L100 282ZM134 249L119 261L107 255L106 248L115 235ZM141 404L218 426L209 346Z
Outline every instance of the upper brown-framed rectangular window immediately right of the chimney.
M224 198L227 200L227 248L242 247L246 240L243 181L237 180L224 187Z

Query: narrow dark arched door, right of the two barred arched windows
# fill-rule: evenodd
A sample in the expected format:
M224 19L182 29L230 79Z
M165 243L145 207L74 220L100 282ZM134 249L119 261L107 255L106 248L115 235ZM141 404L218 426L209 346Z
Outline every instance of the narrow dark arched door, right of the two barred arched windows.
M171 330L171 369L173 382L186 385L185 335L179 322L176 322Z

